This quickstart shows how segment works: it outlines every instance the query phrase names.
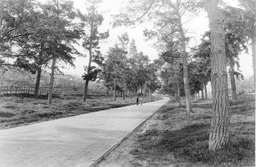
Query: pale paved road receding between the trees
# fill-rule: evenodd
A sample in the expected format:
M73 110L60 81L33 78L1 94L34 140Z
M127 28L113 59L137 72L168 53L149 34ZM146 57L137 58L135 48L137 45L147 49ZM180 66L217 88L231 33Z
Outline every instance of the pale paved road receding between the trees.
M90 166L168 100L0 130L0 166Z

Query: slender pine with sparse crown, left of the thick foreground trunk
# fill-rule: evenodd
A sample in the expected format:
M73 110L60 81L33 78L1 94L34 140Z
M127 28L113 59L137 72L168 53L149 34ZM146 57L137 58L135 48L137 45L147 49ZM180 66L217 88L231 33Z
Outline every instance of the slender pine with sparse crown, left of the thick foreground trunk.
M138 11L140 13L137 14ZM186 109L187 111L192 111L187 70L187 38L183 29L184 20L182 20L183 16L187 13L196 13L195 1L131 1L127 4L125 11L116 15L114 26L135 25L137 22L145 21L145 19L152 19L154 21L155 31L146 30L144 35L148 38L155 37L164 28L168 28L167 36L178 39L175 42L180 46L180 57L183 64Z

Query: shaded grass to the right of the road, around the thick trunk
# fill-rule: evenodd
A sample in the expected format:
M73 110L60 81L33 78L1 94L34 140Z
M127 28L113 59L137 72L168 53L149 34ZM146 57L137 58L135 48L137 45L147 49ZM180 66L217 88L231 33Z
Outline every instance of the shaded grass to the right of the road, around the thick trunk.
M230 101L229 143L208 151L211 101L187 113L172 100L98 166L255 166L255 99Z

